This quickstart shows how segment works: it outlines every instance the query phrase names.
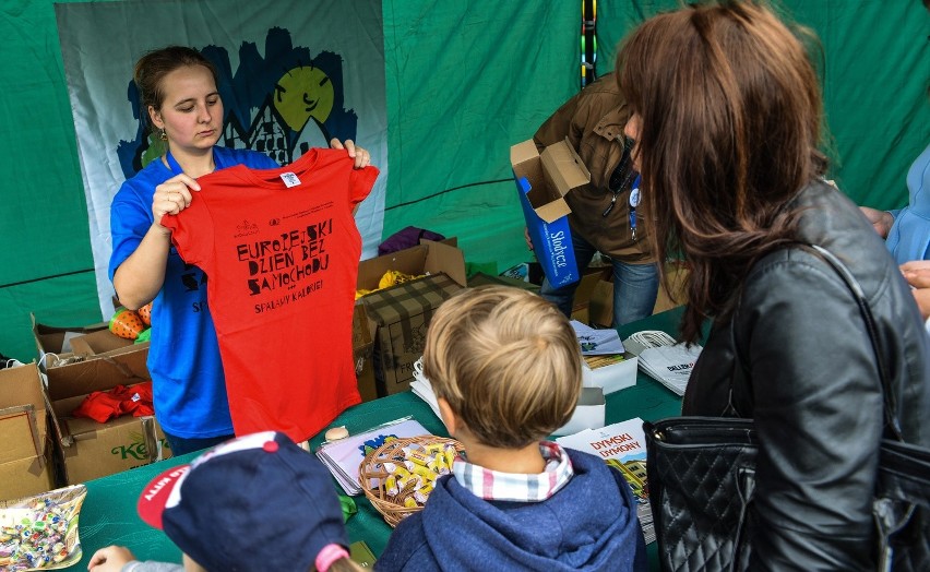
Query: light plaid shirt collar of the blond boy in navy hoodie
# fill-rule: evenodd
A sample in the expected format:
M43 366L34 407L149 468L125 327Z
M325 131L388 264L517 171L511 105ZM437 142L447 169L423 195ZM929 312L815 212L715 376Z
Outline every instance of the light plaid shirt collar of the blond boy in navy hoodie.
M568 485L575 474L565 450L551 441L540 441L546 469L535 475L501 473L468 463L458 456L452 474L460 485L485 500L538 502Z

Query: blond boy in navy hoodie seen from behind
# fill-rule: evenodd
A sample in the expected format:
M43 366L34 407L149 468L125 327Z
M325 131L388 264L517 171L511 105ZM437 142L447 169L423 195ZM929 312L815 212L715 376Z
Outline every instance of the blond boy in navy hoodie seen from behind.
M530 293L466 289L437 310L424 374L467 457L401 521L375 570L647 569L620 473L542 440L574 410L581 359L568 319Z

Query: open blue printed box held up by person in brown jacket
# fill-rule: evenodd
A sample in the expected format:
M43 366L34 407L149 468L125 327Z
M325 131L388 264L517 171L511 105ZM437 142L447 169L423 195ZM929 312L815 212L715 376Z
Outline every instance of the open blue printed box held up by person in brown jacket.
M540 154L533 140L510 148L520 204L529 240L546 277L553 286L579 276L569 228L571 208L565 195L591 182L591 172L568 141L553 143Z

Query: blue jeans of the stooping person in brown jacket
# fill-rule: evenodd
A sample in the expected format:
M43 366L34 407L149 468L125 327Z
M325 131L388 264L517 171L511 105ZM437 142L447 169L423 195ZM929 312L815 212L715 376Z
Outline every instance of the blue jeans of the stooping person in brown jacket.
M575 262L579 275L591 264L597 250L587 240L573 235ZM656 264L630 264L611 260L613 265L613 327L652 315L658 296L658 269ZM539 295L559 307L568 317L572 315L572 303L579 283L553 288L549 278L542 281Z

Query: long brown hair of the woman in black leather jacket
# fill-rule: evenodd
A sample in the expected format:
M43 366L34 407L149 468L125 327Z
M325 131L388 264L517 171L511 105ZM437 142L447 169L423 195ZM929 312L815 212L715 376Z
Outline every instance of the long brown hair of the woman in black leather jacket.
M653 249L690 270L681 336L693 343L706 318L729 318L753 262L791 241L798 213L785 205L826 168L816 73L775 14L736 1L646 21L616 70L641 121Z

